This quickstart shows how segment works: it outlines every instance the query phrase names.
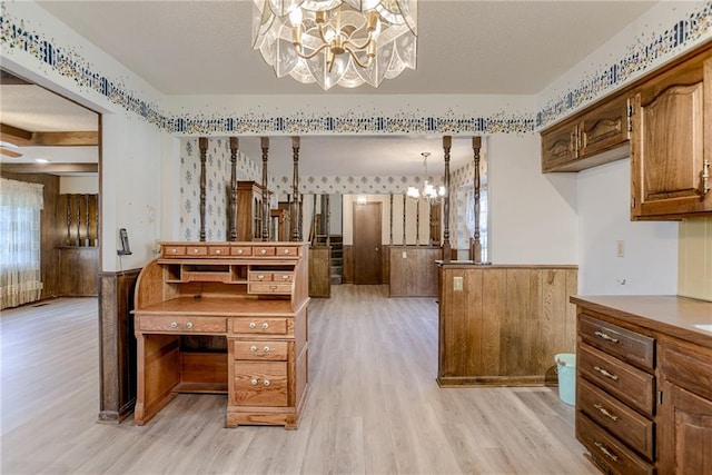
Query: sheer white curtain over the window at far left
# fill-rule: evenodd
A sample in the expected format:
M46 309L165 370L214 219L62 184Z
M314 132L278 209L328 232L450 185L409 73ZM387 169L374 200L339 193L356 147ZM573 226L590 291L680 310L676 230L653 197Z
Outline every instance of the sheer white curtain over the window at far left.
M0 309L39 300L42 185L0 178Z

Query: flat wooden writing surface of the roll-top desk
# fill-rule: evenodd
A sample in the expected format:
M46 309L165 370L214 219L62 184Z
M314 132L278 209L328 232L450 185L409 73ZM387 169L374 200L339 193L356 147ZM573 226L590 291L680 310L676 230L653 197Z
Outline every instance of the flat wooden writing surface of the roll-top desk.
M178 297L134 310L140 315L209 315L248 317L256 315L294 316L288 299L257 299L229 297Z

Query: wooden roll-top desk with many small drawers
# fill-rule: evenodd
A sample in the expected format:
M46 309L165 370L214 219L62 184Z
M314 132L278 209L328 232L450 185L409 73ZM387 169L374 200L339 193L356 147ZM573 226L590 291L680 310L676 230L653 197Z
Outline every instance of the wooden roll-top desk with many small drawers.
M161 244L136 286L136 424L179 393L218 393L227 394L227 427L297 428L308 377L307 249Z

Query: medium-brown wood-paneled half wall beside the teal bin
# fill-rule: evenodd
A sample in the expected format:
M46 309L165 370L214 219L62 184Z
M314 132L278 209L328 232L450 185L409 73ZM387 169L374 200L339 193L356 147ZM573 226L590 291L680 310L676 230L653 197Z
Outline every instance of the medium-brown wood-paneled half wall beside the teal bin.
M575 266L439 267L438 384L543 385L575 342Z

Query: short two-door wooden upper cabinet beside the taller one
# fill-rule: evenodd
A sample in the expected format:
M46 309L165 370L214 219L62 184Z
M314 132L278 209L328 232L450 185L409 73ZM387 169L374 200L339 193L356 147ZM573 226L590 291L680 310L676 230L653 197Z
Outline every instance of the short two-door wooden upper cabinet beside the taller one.
M624 97L607 100L542 132L542 171L580 171L629 155Z

